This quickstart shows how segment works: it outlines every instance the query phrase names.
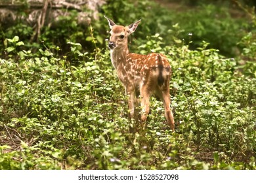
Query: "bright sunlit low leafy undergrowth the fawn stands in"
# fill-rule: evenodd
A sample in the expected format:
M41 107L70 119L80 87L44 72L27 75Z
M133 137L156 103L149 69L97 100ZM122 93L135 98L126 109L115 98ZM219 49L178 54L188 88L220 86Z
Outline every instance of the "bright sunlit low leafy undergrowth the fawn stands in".
M139 52L169 58L175 133L154 98L146 129L128 119L108 50L70 42L75 62L47 48L19 52L10 39L15 48L0 60L0 169L255 169L255 77L206 42L190 50L154 44L161 39Z

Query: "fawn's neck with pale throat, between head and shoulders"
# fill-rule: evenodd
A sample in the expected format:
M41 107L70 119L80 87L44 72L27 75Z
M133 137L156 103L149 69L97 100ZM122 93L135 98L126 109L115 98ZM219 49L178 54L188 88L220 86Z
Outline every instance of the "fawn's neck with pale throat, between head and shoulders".
M115 69L117 69L117 67L120 64L122 63L125 64L127 54L129 54L129 50L127 46L110 50L111 62L115 67Z

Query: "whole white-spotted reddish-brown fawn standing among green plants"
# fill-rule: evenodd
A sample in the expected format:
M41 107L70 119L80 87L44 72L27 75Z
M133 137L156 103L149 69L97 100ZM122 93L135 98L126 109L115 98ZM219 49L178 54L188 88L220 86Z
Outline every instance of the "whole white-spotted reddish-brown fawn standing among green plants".
M125 86L128 95L128 105L131 118L134 118L136 93L140 92L142 107L141 122L146 122L150 110L150 96L160 97L165 107L165 118L174 131L173 112L170 109L169 80L171 66L163 54L151 53L148 55L130 54L127 46L128 36L133 33L140 20L127 26L116 25L104 16L110 26L111 61L117 70L119 80Z

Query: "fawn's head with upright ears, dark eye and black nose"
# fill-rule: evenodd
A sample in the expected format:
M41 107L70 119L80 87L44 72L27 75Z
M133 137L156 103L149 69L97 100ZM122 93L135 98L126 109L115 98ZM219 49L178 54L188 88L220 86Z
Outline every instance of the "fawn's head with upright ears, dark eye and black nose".
M114 50L116 48L123 48L123 46L127 46L128 36L136 30L137 26L140 24L140 20L124 27L122 25L116 25L108 17L104 17L108 20L108 25L111 29L108 47L111 50Z

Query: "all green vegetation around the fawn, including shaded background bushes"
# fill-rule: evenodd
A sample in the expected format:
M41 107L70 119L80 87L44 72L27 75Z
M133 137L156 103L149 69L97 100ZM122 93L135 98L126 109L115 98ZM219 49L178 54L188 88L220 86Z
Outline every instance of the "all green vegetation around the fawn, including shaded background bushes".
M63 17L43 42L22 23L1 30L0 169L256 169L255 24L211 21L213 5L175 19L151 1L133 3L108 1L86 30ZM131 50L169 58L175 133L154 98L146 129L128 119L103 14L126 25L142 18Z

